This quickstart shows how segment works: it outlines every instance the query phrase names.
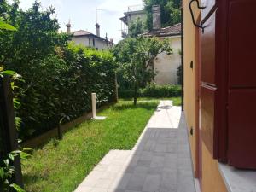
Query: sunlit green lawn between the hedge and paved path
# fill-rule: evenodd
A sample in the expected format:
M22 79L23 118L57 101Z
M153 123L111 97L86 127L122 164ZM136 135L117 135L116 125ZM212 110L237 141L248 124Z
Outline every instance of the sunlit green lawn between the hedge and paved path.
M86 121L34 150L22 162L26 191L73 191L109 150L133 148L158 103L120 101L99 113L104 121Z

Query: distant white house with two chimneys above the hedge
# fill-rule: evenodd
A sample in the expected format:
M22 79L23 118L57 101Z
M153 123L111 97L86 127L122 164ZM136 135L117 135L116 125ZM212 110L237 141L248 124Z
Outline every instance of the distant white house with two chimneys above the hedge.
M82 44L86 47L92 47L96 50L106 50L113 46L113 39L108 40L107 34L106 38L102 38L100 34L100 25L96 23L96 35L87 32L85 30L79 30L76 32L71 32L71 25L67 24L67 33L72 34L72 41L75 44Z

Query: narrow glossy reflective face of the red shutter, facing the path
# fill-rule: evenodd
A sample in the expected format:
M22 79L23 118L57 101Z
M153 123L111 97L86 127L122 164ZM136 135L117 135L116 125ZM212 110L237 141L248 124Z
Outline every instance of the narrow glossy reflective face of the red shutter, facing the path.
M209 16L201 35L201 137L211 154L214 154L214 119L216 84L215 12Z

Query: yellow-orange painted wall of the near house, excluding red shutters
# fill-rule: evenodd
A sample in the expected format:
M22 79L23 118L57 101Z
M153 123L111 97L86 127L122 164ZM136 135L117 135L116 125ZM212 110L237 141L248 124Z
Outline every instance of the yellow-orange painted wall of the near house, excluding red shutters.
M191 15L189 12L189 2L183 0L183 20L184 20L184 113L187 119L189 129L192 127L194 130L193 136L189 134L190 148L192 158L194 162L194 168L196 170L196 138L197 135L195 129L195 69L198 65L196 63L196 52L195 52L195 26L192 23ZM196 3L194 4L196 6ZM193 8L195 20L200 16L199 9ZM193 61L194 67L190 68L190 62ZM206 148L205 144L201 146L201 192L227 192L224 185L223 178L218 171L218 161L213 160L211 154Z

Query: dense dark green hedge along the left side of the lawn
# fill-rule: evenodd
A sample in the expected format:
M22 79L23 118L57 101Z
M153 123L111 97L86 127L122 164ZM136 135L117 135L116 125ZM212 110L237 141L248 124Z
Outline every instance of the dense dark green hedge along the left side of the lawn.
M55 128L63 117L68 121L89 112L92 92L98 106L114 101L113 55L108 51L69 44L28 71L17 93L23 140Z

